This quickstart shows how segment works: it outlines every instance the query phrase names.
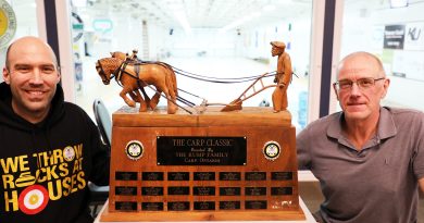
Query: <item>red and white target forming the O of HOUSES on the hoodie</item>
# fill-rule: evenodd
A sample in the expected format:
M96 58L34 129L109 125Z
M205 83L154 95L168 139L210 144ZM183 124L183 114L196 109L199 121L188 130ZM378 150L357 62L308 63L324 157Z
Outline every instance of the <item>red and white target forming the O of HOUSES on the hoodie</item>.
M25 188L18 198L20 209L26 214L36 214L42 211L49 202L49 193L41 185Z

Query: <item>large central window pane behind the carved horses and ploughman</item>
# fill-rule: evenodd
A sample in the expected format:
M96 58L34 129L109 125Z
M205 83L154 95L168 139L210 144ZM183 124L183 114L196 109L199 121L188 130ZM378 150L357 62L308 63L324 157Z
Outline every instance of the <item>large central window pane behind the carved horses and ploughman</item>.
M84 1L83 1L84 2ZM184 72L214 78L257 76L276 71L271 41L284 41L296 76L288 88L288 110L297 127L307 124L307 95L311 41L312 0L301 1L87 1L73 5L76 102L91 108L102 98L111 112L125 106L121 86L104 86L95 63L110 52L163 61ZM79 36L79 34L83 34ZM79 76L78 76L79 75ZM177 74L179 96L200 104L229 103L253 80L216 84ZM264 78L265 85L273 77ZM257 87L255 90L259 88ZM184 91L188 91L188 95ZM149 96L154 92L146 88ZM258 92L244 107L272 106L273 89ZM198 96L194 97L192 95ZM161 99L160 106L165 104Z

